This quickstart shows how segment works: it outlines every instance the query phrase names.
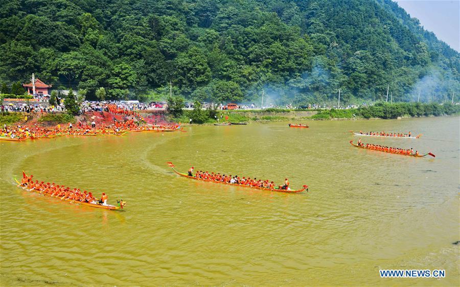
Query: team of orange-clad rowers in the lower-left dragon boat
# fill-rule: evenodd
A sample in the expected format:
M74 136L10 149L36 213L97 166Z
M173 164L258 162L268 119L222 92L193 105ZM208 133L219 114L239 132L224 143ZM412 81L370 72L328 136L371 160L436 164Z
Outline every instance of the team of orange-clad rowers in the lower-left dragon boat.
M24 174L21 180L21 186L27 187L30 190L36 190L40 193L48 194L52 197L60 197L61 199L74 200L80 202L87 202L91 204L103 204L107 205L107 195L102 193L101 199L98 200L93 196L93 193L87 192L86 190L81 192L80 189L71 189L64 186L56 185L54 182L38 182L33 180L33 175L27 176Z

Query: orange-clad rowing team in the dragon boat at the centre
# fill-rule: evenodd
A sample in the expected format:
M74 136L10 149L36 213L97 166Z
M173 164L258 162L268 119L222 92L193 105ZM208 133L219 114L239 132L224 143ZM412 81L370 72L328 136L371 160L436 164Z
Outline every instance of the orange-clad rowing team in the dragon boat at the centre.
M273 181L269 180L260 180L257 178L251 179L250 177L240 178L238 175L225 175L220 173L209 173L208 171L198 171L195 175L193 175L194 167L189 169L189 176L194 176L197 178L205 179L205 180L213 180L213 181L220 181L225 182L226 184L235 184L235 185L242 185L242 186L251 186L251 187L260 187L260 188L269 188L274 189L275 185ZM289 189L289 180L285 178L284 185L278 186L279 189Z

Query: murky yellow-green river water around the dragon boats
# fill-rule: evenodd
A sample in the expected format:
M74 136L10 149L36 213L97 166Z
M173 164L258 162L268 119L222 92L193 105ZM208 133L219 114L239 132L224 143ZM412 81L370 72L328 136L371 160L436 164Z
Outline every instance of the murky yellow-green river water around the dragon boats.
M0 142L1 285L459 285L460 118L191 126L187 133ZM411 131L352 147L348 131ZM300 194L199 182L257 177ZM34 179L106 192L122 212L27 192ZM380 278L379 269L446 277Z

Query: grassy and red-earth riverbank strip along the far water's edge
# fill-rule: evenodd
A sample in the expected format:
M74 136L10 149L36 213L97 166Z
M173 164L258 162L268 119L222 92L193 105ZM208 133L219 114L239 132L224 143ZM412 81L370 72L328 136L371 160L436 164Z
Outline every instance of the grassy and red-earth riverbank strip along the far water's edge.
M440 105L438 103L377 103L371 107L360 107L347 110L185 110L180 117L173 117L166 111L137 111L147 124L169 124L180 122L198 125L211 125L218 122L275 122L275 121L306 121L306 120L359 120L359 119L401 119L430 116L459 115L460 105ZM25 120L27 116L27 121ZM108 112L88 112L79 116L66 113L4 113L0 116L0 124L39 124L51 126L68 122L91 122L112 124L123 122L132 117L113 115ZM135 119L137 120L137 119Z

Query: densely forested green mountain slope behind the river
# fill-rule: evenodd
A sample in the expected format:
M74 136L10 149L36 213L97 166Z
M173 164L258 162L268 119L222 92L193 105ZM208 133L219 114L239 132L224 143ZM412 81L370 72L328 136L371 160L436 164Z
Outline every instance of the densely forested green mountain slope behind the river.
M390 0L2 0L0 82L107 96L442 101L460 55Z

